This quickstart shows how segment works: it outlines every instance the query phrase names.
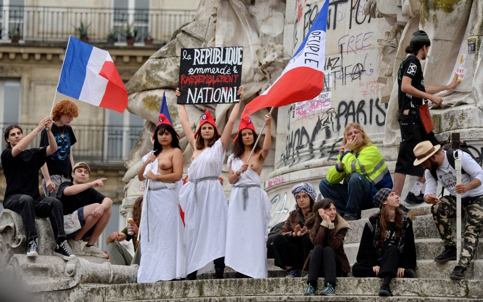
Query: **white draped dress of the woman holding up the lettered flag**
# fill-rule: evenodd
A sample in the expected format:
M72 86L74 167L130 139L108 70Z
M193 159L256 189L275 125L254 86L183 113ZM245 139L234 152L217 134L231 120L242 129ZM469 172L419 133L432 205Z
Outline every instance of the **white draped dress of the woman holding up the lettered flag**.
M228 158L228 167L230 162L233 173L243 164L233 155ZM252 278L267 277L266 240L271 205L260 185L260 176L248 167L233 185L228 204L225 264ZM250 186L245 188L246 200L243 186Z

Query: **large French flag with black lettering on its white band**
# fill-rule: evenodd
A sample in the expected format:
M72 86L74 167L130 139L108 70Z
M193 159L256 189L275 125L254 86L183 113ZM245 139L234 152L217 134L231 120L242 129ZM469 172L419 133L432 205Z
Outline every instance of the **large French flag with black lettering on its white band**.
M285 70L272 86L245 106L241 118L262 108L306 101L322 92L328 13L329 0L326 0Z

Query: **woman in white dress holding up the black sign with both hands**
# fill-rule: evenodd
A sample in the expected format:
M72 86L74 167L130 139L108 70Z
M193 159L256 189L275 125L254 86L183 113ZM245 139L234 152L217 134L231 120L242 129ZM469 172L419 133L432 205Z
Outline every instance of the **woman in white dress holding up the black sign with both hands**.
M240 101L243 89L238 90ZM176 96L181 95L176 90ZM178 105L179 120L193 148L187 182L179 191L179 203L184 211L184 243L186 248L186 279L215 267L214 278L222 279L225 269L225 240L228 206L220 184L220 173L225 150L240 111L240 102L233 106L223 133L220 135L215 120L208 110L203 114L197 132L191 129L184 105Z

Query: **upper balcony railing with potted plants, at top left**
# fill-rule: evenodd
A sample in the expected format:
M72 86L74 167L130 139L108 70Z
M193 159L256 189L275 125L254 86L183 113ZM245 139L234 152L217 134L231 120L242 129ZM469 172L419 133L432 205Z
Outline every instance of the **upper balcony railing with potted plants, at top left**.
M126 41L131 26L135 42L152 39L166 43L184 23L193 21L196 10L114 9L53 6L0 6L0 40L18 34L25 42L66 42L69 35L80 38L87 27L89 42Z

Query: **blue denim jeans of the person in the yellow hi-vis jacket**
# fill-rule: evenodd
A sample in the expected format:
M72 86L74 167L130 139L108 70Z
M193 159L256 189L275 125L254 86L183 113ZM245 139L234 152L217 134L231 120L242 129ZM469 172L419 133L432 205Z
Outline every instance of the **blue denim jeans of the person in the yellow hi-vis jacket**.
M361 210L374 208L371 200L371 183L360 173L352 173L347 184L330 184L323 179L319 189L325 198L335 201L341 216L361 218Z

